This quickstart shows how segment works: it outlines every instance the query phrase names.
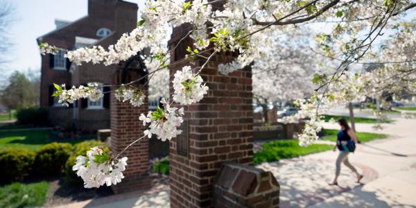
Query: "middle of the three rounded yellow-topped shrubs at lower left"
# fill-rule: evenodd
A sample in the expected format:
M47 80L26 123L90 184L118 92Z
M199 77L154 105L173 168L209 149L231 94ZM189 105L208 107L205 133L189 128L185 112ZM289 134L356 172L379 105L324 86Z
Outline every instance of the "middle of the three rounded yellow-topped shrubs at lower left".
M68 143L46 144L36 152L33 171L37 175L59 175L71 155L72 145Z

